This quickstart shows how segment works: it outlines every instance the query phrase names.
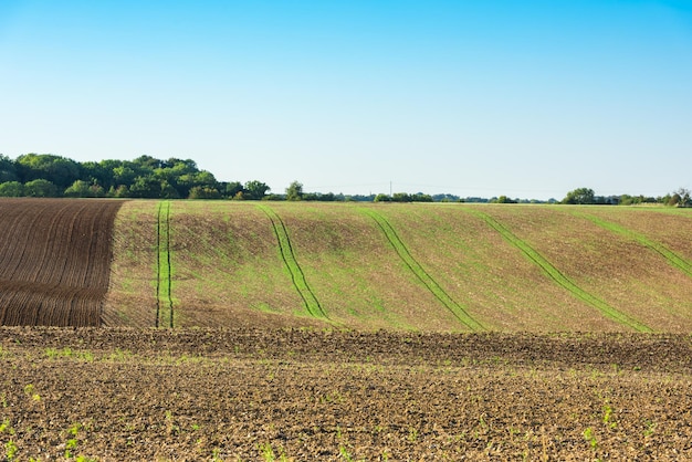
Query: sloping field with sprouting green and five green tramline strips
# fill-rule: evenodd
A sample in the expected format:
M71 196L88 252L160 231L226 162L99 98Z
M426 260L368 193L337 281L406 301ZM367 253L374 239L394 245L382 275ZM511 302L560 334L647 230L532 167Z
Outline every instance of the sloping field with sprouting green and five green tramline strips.
M107 325L689 332L669 208L129 201Z

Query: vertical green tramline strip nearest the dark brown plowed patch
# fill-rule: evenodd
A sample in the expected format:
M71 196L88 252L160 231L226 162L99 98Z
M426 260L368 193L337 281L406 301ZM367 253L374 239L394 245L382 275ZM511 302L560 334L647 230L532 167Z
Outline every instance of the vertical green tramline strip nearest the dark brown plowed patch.
M160 201L156 211L156 327L174 327L170 263L170 201ZM161 308L161 304L166 308Z

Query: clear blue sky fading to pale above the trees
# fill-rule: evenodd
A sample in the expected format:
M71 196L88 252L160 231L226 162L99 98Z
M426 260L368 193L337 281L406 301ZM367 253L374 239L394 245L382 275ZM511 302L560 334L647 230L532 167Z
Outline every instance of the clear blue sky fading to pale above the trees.
M0 0L0 154L282 193L692 189L692 1Z

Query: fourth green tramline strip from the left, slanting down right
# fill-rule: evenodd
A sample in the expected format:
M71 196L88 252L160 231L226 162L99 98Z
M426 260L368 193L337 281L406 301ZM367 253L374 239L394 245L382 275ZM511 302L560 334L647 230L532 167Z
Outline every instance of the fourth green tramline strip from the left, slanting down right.
M579 287L569 277L565 276L557 267L555 267L545 256L538 253L534 248L526 243L521 238L516 237L512 231L505 228L502 223L496 221L491 216L478 210L470 210L471 213L483 219L491 228L497 231L507 242L521 250L533 263L538 265L543 272L551 277L556 284L562 286L572 293L575 297L581 300L588 305L600 311L605 316L633 328L638 332L652 332L651 328L639 321L628 316L627 314L618 311L617 308L608 305L600 298L591 295L584 288Z

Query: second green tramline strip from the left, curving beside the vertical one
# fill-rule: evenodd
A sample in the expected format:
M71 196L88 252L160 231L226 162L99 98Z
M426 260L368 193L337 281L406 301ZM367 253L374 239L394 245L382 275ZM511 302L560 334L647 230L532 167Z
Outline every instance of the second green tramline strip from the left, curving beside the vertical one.
M276 241L279 242L279 249L281 251L281 258L284 262L284 265L289 270L291 274L291 281L293 282L293 286L303 298L303 303L305 304L305 309L310 313L311 316L316 318L326 318L328 316L324 312L319 301L315 296L315 293L307 284L307 280L305 279L305 273L301 269L301 265L295 258L295 253L293 253L293 245L291 244L291 238L289 238L289 231L286 230L286 225L279 214L269 208L268 206L256 206L260 210L262 210L269 220L272 223L272 228L274 229L274 235L276 235Z

